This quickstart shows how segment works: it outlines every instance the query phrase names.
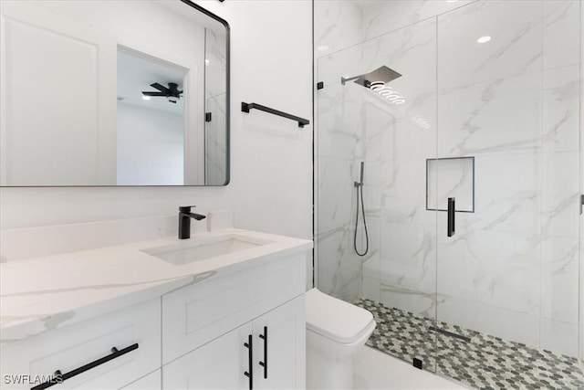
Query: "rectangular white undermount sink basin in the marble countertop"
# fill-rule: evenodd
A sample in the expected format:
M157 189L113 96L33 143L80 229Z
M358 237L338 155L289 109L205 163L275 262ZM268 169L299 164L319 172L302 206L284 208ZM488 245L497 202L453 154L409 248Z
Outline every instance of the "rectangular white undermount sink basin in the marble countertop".
M177 244L141 249L141 252L180 266L271 243L260 238L230 234L207 239L185 239Z

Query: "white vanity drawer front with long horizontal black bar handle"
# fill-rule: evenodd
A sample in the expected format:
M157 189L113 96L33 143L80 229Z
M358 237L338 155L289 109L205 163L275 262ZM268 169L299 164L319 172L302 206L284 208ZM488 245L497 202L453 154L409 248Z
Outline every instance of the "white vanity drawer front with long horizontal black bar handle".
M120 388L155 371L161 365L160 302L150 300L3 345L2 388L30 389L57 370L67 375L101 363L106 356L117 357L91 366L55 388ZM112 354L114 347L119 353Z

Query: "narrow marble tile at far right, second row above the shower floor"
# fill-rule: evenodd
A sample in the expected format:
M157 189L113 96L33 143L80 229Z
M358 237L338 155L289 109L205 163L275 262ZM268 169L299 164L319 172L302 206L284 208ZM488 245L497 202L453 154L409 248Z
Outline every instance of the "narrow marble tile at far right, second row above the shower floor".
M541 256L541 316L578 324L578 238L546 237Z

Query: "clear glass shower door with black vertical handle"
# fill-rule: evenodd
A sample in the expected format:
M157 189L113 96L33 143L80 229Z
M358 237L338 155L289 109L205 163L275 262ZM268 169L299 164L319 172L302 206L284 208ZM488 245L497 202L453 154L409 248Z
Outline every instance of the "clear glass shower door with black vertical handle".
M440 208L455 199L454 232L438 214L437 372L473 387L584 385L579 6L479 1L437 17L433 179Z

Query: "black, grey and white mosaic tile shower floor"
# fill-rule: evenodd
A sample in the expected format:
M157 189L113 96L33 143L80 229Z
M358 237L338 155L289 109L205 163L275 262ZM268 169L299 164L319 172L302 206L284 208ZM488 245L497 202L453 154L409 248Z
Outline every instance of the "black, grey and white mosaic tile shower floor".
M406 362L419 359L424 370L464 385L478 389L584 389L584 373L573 357L442 321L436 324L372 300L355 304L370 311L377 322L368 345Z

